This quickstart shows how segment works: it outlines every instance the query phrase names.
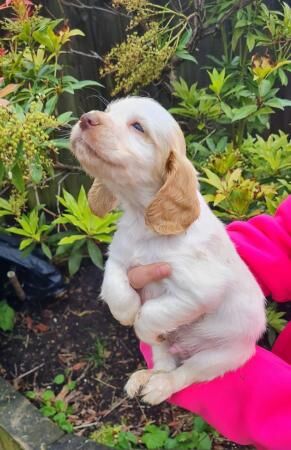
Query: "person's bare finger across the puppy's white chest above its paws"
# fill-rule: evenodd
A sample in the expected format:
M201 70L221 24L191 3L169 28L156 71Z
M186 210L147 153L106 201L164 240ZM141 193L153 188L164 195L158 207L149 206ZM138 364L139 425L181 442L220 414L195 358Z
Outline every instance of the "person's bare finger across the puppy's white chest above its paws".
M159 281L171 275L171 266L167 263L154 263L138 266L128 271L130 285L134 289L142 289L148 283Z

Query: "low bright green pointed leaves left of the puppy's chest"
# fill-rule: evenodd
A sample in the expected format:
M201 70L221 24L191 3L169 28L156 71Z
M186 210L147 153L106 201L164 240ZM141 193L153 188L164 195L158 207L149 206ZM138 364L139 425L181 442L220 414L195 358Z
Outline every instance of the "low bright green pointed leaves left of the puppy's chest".
M15 221L13 226L5 226L4 222L3 231L21 238L19 249L23 256L38 247L54 262L67 262L70 276L79 270L83 258L87 257L97 267L103 268L103 256L98 245L111 242L120 213L96 217L89 208L83 186L77 200L65 190L63 197L58 199L65 210L58 218L47 222L43 205L36 206L28 214L17 212L17 215L14 204L0 198L0 218L12 216Z

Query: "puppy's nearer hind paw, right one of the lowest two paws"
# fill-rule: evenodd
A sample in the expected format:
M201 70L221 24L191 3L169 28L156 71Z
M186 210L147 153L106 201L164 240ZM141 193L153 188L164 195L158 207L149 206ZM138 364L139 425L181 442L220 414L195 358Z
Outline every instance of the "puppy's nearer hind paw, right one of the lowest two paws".
M158 405L174 394L171 374L154 373L141 391L142 399L150 405Z

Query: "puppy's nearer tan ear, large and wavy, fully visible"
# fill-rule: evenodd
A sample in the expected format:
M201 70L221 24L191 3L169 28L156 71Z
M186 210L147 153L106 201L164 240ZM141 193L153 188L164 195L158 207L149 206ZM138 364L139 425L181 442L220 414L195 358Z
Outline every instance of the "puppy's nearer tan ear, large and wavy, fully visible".
M196 172L186 156L171 151L165 182L145 213L145 222L156 233L179 234L200 214Z

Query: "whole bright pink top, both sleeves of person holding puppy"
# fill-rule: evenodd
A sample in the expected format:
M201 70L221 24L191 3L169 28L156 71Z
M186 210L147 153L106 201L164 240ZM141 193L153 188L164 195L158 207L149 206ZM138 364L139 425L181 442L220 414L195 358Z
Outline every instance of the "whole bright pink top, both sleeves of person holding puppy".
M277 302L291 300L291 196L274 217L233 222L227 231L265 295ZM150 366L150 348L141 344L141 350ZM291 450L291 322L272 352L257 347L237 371L193 384L169 401L201 415L239 444Z

